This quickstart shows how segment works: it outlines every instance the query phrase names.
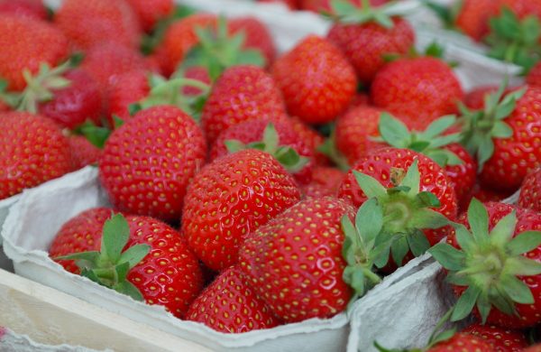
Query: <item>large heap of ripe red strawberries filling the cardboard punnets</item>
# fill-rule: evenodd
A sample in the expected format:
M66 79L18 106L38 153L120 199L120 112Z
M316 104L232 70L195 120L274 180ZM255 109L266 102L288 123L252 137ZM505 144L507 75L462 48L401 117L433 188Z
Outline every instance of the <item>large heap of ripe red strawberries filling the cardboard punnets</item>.
M541 323L538 74L464 92L381 3L329 3L279 55L257 19L170 0L0 0L0 199L96 165L113 208L50 257L218 331L333 317L429 251L442 324L481 324L426 349L527 347L492 325Z

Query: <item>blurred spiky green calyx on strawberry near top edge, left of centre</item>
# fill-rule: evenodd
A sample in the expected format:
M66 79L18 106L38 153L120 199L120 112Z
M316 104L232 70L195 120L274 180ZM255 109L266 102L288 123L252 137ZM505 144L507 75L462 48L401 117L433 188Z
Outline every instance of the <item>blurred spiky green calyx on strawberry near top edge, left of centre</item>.
M196 27L197 45L188 51L179 69L191 66L202 66L215 81L225 69L238 65L255 65L264 67L267 62L261 51L244 49L246 34L238 32L229 34L224 16L218 18L217 28Z

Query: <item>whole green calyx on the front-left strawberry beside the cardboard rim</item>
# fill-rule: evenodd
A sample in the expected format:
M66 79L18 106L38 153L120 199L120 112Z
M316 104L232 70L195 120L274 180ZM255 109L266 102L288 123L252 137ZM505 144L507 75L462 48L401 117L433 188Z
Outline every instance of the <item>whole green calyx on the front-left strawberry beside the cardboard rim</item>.
M74 260L85 276L95 283L142 301L141 292L126 280L134 266L149 254L150 245L133 245L123 251L130 237L130 227L121 214L105 221L100 251L62 255L54 260Z

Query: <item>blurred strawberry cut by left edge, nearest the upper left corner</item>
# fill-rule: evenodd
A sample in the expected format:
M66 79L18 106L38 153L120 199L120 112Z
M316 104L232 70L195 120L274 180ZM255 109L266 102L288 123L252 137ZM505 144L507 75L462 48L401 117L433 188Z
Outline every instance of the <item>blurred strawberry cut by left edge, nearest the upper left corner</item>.
M23 90L23 70L35 74L41 63L54 67L68 57L68 41L57 28L39 20L0 15L0 77L8 90ZM6 48L9 48L7 50Z

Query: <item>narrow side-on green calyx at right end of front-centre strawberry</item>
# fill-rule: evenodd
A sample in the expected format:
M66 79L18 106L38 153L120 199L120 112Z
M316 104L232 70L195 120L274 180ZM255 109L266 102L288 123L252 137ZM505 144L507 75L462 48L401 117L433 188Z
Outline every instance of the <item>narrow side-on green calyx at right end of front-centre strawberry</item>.
M341 222L344 231L342 255L347 263L343 278L354 290L353 302L381 283L381 277L374 273L374 263L382 253L389 251L390 241L377 244L383 227L383 213L377 199L362 204L357 210L355 225L347 216Z

